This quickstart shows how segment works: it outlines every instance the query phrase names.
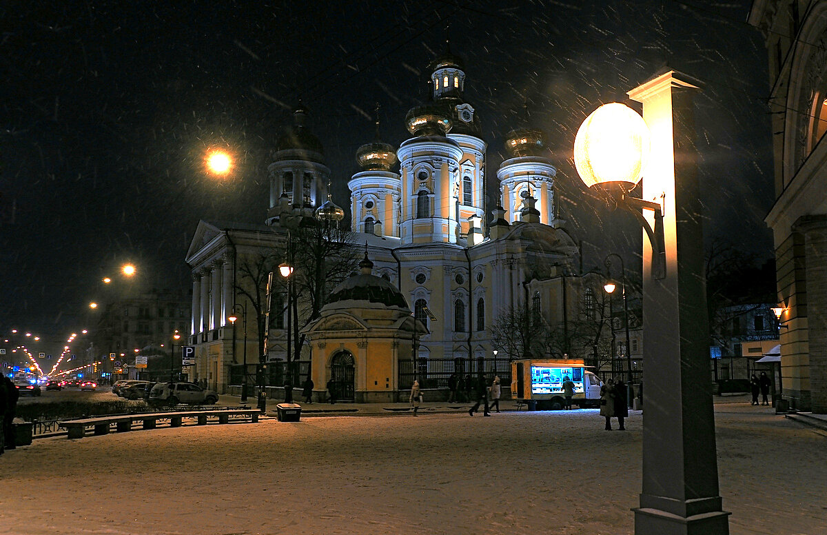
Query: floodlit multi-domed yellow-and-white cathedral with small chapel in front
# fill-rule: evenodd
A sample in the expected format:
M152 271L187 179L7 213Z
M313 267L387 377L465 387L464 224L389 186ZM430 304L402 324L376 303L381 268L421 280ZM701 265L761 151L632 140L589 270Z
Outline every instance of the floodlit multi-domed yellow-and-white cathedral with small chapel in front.
M565 326L581 309L578 248L557 217L557 170L543 132L528 125L510 131L507 159L490 173L481 118L464 98L463 61L446 52L428 72L430 99L407 112L408 138L398 148L375 139L356 151L360 170L347 184L350 230L365 258L303 327L299 382L312 378L318 399L331 379L340 399L380 402L402 399L414 377L431 378L425 388L438 390L454 371L500 373L475 367L498 351L506 355L492 341L498 318L524 307ZM220 392L237 391L233 367L244 361L255 374L259 362L261 322L255 303L237 291L241 257L279 246L304 219L345 215L328 191L331 170L311 130L299 105L275 144L264 223L202 221L189 248L190 376ZM485 206L490 180L499 184L495 207ZM281 299L271 313L284 310ZM243 334L227 320L240 309ZM270 321L267 362L286 358L286 321ZM249 341L246 350L241 340ZM280 385L267 388L272 397L284 394Z

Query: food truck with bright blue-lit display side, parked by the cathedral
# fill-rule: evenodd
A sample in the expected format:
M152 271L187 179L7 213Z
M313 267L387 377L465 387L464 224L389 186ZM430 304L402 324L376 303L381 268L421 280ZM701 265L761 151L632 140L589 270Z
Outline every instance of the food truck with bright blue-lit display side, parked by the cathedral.
M511 397L529 408L559 410L565 406L563 381L574 383L571 404L580 408L600 407L603 381L586 370L582 360L520 359L511 363Z

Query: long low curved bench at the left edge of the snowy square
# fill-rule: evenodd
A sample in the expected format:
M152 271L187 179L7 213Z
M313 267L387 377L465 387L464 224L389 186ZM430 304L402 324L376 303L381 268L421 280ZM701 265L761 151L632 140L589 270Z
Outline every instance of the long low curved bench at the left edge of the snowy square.
M117 432L132 430L132 424L141 422L144 429L155 429L158 420L170 420L170 428L179 428L184 418L196 418L198 425L205 425L207 418L217 417L218 423L229 423L230 417L250 418L252 423L258 423L261 411L257 408L223 408L216 410L198 411L171 411L168 413L120 414L117 416L98 416L79 420L65 420L58 425L65 428L69 438L83 438L87 428L93 428L95 435L106 435L112 424Z

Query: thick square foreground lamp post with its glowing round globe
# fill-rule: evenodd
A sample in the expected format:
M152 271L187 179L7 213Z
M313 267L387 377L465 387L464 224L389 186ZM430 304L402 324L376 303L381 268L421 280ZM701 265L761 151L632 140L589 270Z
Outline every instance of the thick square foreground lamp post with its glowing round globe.
M583 182L605 193L609 206L638 217L649 237L643 243L643 264L651 270L643 270L647 388L636 535L729 534L719 495L712 392L698 388L709 382L710 369L692 104L697 89L683 74L668 71L629 92L643 103L643 118L624 104L605 104L586 118L575 140ZM644 169L642 198L631 197Z

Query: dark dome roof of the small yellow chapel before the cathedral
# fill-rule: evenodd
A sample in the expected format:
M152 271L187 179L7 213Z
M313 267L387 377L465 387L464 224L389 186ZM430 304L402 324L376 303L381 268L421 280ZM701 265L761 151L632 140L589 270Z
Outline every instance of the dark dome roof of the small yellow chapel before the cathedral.
M359 275L351 275L333 289L323 310L360 308L366 307L367 304L366 308L375 308L376 305L382 305L389 308L401 308L410 313L404 295L396 289L394 284L370 274L373 270L373 262L368 259L367 253L365 253L364 260L359 262L359 267L361 268ZM353 303L354 301L363 303Z

